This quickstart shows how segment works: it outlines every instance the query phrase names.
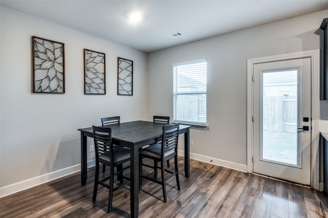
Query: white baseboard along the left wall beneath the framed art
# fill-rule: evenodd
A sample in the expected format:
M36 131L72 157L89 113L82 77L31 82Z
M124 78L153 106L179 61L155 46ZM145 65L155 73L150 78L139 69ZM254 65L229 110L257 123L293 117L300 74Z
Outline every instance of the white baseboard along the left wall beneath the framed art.
M23 191L28 188L32 188L37 185L41 185L47 182L50 182L61 177L68 176L72 173L78 172L81 170L81 164L76 164L74 166L69 166L64 169L59 169L53 172L46 173L41 176L37 176L31 179L20 181L14 184L10 184L4 187L0 187L0 198L6 197L7 195L14 194L18 191ZM88 168L95 165L95 160L88 161Z

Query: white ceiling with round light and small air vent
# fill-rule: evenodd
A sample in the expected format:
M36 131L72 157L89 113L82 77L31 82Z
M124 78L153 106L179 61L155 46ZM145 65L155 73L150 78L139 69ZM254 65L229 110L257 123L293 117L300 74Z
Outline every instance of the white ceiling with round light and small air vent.
M144 52L328 9L328 0L1 0L1 4ZM132 11L143 14L137 25L128 21ZM183 35L177 38L167 36L175 32Z

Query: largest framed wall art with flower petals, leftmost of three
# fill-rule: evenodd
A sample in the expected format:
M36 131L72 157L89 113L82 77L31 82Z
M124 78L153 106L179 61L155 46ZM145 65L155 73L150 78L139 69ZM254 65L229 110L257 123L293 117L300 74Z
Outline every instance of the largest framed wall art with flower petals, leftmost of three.
M65 93L65 44L32 37L33 93Z

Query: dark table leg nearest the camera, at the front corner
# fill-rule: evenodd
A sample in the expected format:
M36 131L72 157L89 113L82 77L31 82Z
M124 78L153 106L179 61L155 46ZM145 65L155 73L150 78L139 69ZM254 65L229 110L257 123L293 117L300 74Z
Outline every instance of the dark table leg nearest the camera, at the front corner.
M139 148L133 146L130 148L130 182L131 182L131 217L138 217L139 213Z

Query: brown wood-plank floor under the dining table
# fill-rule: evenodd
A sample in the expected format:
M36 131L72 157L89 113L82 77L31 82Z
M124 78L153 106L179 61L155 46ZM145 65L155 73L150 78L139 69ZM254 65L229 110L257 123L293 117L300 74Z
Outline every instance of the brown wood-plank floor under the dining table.
M143 183L139 217L328 217L322 192L200 161L190 165L187 179L179 157L181 190L171 178L167 203L160 185ZM108 189L99 186L92 203L93 170L88 170L86 186L74 173L0 199L0 217L130 217L129 182L114 192L110 213Z

